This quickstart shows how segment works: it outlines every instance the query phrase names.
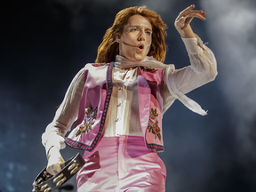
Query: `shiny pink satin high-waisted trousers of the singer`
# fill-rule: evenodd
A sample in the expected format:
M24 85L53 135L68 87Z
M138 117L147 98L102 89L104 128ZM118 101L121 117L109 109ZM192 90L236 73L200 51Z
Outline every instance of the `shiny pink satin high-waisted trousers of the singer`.
M143 137L102 138L92 152L84 151L84 159L77 192L165 191L164 162L146 148Z

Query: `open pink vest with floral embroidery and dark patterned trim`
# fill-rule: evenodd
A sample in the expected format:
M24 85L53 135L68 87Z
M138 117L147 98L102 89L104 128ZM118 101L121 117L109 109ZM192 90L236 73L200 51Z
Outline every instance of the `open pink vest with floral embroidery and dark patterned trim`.
M113 66L114 62L85 66L78 118L65 140L69 146L92 151L100 141L113 89ZM145 145L152 151L164 151L162 70L138 68L138 94Z

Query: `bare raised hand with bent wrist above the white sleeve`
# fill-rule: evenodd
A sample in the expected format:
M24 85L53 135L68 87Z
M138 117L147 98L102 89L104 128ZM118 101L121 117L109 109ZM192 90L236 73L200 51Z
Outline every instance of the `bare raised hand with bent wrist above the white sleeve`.
M180 33L180 36L183 38L195 38L194 32L190 27L190 22L194 17L206 20L204 15L206 12L202 10L193 10L195 8L195 4L190 5L188 8L180 12L179 16L176 18L174 26Z

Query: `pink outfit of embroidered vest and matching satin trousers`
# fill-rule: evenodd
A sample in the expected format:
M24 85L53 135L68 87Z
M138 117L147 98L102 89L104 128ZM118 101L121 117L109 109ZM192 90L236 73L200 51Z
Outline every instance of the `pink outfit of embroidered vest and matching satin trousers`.
M65 140L71 147L84 149L86 163L77 174L77 191L165 191L166 170L156 154L164 150L162 70L148 72L138 68L140 127L144 137L102 138L113 89L113 67L114 62L105 66L87 64L88 69L84 70L76 128Z

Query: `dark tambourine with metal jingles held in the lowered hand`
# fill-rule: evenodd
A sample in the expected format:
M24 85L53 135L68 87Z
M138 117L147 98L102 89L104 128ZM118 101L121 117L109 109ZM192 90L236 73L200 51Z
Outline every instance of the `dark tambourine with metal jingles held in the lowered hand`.
M77 153L76 156L73 156L64 164L60 165L62 169L55 176L52 176L52 174L47 172L46 167L44 167L44 170L36 176L36 179L33 182L32 192L51 192L54 189L59 188L71 179L84 164L83 157Z

